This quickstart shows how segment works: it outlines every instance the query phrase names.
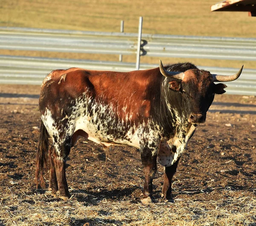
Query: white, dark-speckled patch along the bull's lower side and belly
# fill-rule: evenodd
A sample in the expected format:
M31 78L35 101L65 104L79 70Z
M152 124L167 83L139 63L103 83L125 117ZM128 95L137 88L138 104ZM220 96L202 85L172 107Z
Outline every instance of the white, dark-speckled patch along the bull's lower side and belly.
M116 117L116 109L111 103L106 105L99 100L95 101L87 93L73 100L71 105L71 116L64 115L62 119L59 119L58 125L49 109L46 109L44 115L41 116L57 154L60 152L55 140L57 139L58 143L65 142L65 138L72 137L77 130L83 130L88 134L89 140L106 147L129 145L140 148L141 141L146 139L148 147L154 150L152 154L155 154L155 144L157 143L155 140L159 136L157 131L159 127L155 126L152 121L148 120L147 125L145 123L138 126L131 125L128 121L131 118L129 114L125 116L126 121L119 119ZM123 107L122 110L125 112L126 108ZM63 109L61 113L64 114ZM148 127L147 134L144 134L145 127Z

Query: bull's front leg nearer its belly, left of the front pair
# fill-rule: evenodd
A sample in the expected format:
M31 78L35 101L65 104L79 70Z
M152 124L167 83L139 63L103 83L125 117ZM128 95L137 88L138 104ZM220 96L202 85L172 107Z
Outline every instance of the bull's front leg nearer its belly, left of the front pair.
M151 147L153 147L151 145ZM143 188L143 198L141 202L143 204L153 203L153 189L152 182L154 175L157 172L157 144L154 148L143 146L140 148L141 161L143 165L143 171L145 174L145 183Z

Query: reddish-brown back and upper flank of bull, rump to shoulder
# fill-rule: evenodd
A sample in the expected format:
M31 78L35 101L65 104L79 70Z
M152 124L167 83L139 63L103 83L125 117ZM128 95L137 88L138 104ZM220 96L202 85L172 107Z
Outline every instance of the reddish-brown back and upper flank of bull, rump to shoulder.
M127 114L133 119L138 115L149 117L152 96L159 92L156 87L158 71L54 70L44 79L39 107L41 113L47 107L56 112L60 107L70 107L72 101L86 93L95 101L111 105L124 120Z

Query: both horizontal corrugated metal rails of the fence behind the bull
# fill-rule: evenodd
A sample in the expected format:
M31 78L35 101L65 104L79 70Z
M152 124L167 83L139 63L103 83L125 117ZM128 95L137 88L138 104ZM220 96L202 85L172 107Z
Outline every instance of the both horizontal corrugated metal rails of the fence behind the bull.
M116 55L135 55L139 50L139 57L186 57L256 61L256 38L142 34L141 41L138 44L138 34L135 33L0 27L0 49ZM82 67L95 70L131 71L137 65L141 69L158 67L157 64L140 64L139 61L135 64L0 55L0 83L41 84L47 73L60 68ZM237 69L232 68L201 68L215 74L232 74L237 71ZM245 66L239 80L228 84L227 93L256 96L256 70L246 69Z

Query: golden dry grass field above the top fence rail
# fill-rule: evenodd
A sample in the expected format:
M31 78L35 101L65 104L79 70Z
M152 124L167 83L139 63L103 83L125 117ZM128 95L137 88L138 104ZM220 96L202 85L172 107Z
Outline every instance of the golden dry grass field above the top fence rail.
M256 36L247 12L210 12L216 0L1 0L0 26L224 37Z

